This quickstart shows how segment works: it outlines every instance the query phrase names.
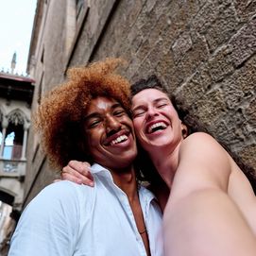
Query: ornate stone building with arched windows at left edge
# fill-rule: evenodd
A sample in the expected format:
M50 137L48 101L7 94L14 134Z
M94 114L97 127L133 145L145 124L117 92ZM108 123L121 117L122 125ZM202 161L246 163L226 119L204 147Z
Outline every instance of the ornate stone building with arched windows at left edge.
M14 55L15 56L15 55ZM26 145L34 80L0 72L0 255L7 255L9 238L24 202Z

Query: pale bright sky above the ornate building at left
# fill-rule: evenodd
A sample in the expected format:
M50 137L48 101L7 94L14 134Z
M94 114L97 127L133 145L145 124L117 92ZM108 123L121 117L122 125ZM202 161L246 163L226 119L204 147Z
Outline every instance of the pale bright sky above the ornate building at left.
M0 0L0 71L9 70L14 52L14 73L26 76L37 0Z

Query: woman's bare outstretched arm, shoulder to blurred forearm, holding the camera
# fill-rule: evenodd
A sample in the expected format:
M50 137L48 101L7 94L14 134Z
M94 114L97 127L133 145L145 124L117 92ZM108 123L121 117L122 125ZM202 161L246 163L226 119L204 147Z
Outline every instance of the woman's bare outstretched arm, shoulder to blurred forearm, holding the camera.
M165 255L256 255L256 239L229 195L230 157L204 133L182 143L163 218Z

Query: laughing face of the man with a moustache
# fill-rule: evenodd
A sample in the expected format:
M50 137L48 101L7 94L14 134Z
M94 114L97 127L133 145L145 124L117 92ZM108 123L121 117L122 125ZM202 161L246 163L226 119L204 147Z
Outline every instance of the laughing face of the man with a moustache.
M99 96L85 113L86 146L94 162L111 170L128 167L137 155L132 121L113 98Z

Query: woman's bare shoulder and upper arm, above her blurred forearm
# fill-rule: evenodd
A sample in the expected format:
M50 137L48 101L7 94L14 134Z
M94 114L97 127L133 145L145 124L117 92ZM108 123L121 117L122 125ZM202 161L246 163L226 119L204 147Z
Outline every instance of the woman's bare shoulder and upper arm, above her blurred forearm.
M196 132L181 143L175 179L186 180L189 189L218 187L226 190L230 171L229 154L211 135Z

